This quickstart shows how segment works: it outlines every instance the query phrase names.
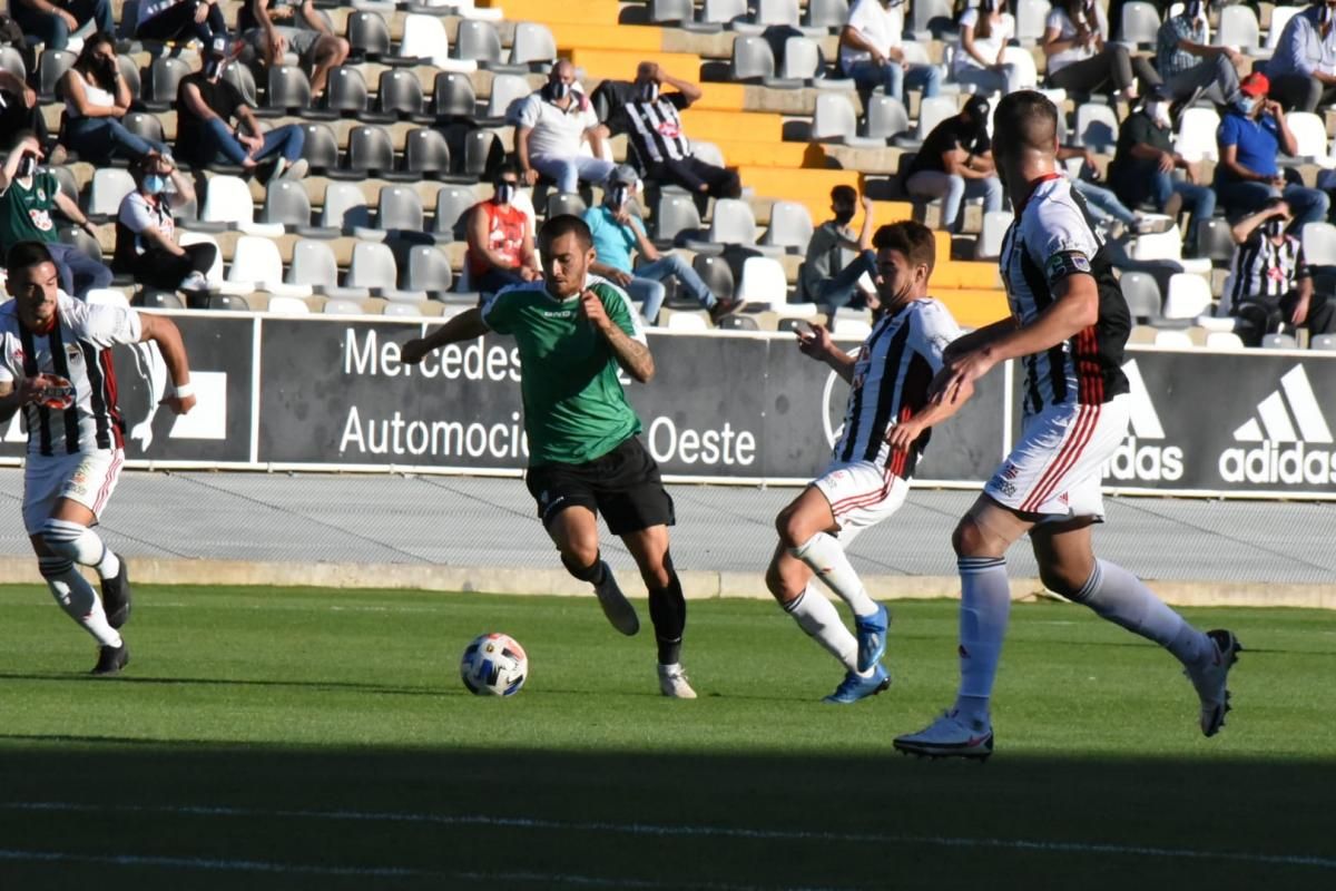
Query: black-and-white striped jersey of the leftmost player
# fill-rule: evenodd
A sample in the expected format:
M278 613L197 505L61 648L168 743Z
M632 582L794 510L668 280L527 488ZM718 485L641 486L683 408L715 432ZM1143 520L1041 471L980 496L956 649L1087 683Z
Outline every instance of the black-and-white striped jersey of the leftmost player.
M128 307L90 306L59 291L55 323L49 331L39 334L23 326L16 307L17 301L0 306L0 382L17 383L39 374L59 374L75 389L68 409L24 406L28 454L123 448L124 425L116 406L111 347L139 341L139 313Z

